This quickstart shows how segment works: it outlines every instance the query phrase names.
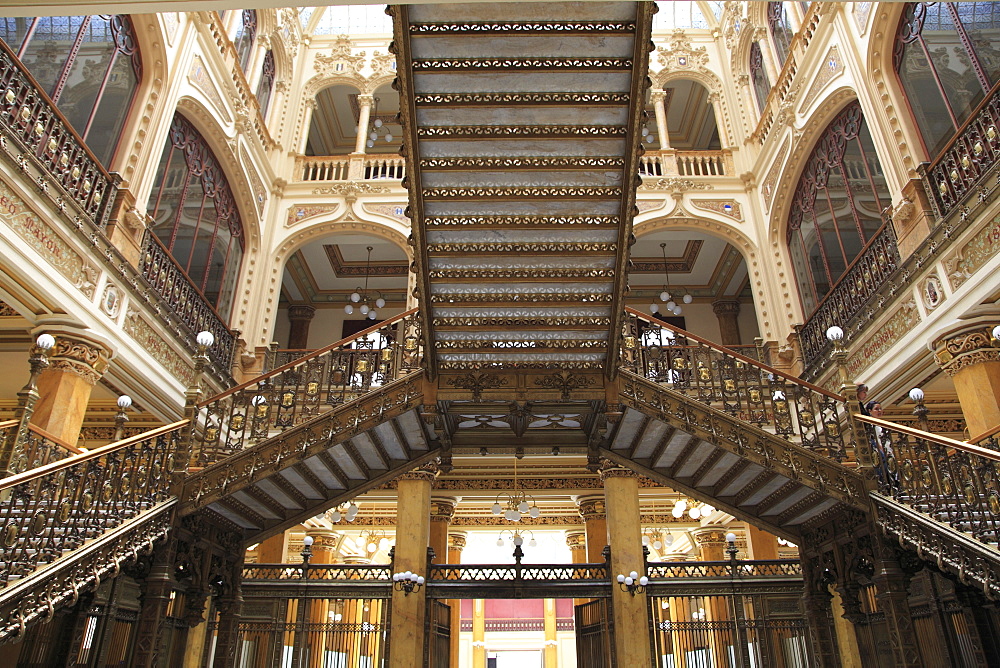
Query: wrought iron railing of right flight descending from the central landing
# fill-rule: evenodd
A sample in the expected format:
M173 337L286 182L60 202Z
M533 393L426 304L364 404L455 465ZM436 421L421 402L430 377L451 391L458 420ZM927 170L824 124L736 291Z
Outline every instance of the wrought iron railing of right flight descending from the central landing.
M842 461L844 398L626 307L622 367L690 399Z

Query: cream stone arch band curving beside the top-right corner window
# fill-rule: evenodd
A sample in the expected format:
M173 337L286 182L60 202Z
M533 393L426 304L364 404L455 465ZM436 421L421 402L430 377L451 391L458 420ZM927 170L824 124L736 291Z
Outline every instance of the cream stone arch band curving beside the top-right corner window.
M891 135L891 143L896 148L891 151L890 164L895 165L897 173L905 175L901 180L910 180L919 178L917 166L928 156L892 63L896 26L905 7L901 2L877 4L875 20L868 30L871 37L862 76L877 96L877 104L872 106L879 124Z

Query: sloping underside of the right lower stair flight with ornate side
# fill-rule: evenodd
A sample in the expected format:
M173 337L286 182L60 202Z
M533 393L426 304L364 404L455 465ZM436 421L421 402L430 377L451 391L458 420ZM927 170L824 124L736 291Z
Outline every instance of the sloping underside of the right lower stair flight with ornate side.
M860 475L735 416L624 371L619 400L602 454L772 533L868 508Z

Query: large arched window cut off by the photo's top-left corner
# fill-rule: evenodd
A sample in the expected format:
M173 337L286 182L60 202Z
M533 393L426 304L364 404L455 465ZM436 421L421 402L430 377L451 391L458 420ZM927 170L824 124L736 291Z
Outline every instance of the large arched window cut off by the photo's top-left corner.
M110 166L142 79L142 60L129 18L4 18L0 39L101 164Z

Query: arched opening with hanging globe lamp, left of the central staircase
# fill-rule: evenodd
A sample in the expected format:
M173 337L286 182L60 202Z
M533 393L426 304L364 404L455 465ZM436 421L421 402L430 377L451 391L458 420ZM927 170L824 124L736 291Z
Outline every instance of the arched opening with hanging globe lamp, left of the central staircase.
M274 340L282 349L311 350L402 313L409 266L403 248L370 234L309 242L285 262Z

